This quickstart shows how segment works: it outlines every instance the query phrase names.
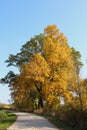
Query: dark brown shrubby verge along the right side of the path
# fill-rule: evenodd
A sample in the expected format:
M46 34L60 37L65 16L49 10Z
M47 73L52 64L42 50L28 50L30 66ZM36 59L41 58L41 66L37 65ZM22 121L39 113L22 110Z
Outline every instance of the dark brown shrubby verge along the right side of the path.
M62 109L62 108L61 108ZM62 113L56 111L55 112L50 110L50 111L43 111L42 109L37 109L34 111L34 114L37 114L39 116L43 116L46 118L48 121L50 121L54 126L59 128L59 130L87 130L86 123L87 123L87 115L84 115L84 126L81 129L81 126L79 125L80 122L80 112L78 111L69 111L69 112L64 112L61 111ZM83 113L85 114L85 113ZM78 116L79 115L79 116Z

